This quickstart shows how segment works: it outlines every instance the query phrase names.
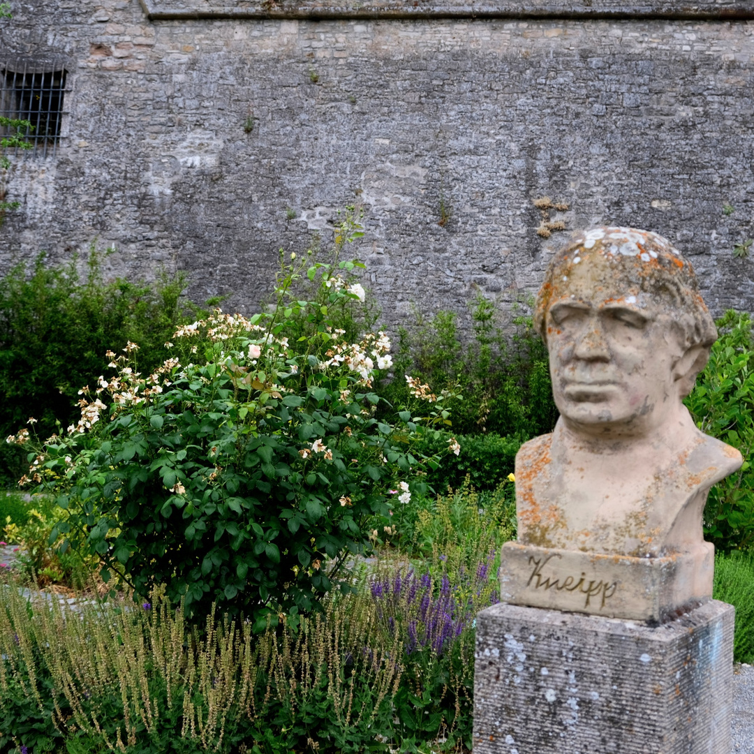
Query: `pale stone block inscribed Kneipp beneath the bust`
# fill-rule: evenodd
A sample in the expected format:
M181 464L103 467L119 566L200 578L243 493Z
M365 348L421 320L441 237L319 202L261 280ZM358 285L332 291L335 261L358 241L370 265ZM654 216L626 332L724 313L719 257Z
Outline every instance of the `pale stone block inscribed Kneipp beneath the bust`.
M663 558L506 542L500 599L512 605L660 623L710 599L714 547Z

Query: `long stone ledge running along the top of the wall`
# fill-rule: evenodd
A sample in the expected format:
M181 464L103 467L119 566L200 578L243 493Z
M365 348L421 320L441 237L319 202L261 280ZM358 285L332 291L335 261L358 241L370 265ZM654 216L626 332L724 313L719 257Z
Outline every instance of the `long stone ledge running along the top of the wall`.
M752 20L750 0L139 0L150 20L196 19L658 19Z

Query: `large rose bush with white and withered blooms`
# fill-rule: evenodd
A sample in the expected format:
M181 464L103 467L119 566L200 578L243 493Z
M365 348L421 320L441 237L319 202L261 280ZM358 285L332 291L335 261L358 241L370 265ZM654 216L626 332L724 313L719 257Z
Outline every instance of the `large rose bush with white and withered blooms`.
M259 628L348 590L345 562L369 547L375 516L387 518L388 488L423 491L417 473L438 462L412 446L449 421L449 396L431 394L375 418L390 339L347 340L329 314L363 305L363 288L345 277L363 265L338 261L358 235L349 213L333 264L292 255L274 311L217 310L179 327L149 375L136 344L109 351L115 374L81 391L81 419L59 437L9 437L30 449L21 483L54 492L68 512L52 536L83 532L103 578L115 572L137 596L165 584L189 615L215 601ZM312 301L292 293L304 271L318 284Z

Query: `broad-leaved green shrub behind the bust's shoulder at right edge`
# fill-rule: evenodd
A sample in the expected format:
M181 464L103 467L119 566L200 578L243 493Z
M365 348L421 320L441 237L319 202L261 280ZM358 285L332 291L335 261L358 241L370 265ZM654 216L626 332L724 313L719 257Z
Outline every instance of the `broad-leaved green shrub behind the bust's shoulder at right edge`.
M697 427L739 449L743 466L716 484L704 510L704 533L720 550L754 544L754 360L749 314L726 312L710 363L685 400Z

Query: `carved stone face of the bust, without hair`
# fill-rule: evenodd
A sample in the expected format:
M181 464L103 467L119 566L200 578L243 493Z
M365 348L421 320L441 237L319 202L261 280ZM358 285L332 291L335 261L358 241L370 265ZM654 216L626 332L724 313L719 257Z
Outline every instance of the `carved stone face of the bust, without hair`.
M556 406L567 425L589 434L647 434L679 405L670 317L645 293L605 295L589 277L575 274L547 311Z

